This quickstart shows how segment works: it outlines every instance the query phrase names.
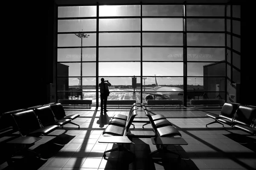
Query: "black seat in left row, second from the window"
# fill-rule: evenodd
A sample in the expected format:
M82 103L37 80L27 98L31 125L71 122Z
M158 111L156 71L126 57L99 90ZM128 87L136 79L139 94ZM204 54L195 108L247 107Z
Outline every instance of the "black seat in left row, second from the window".
M67 123L71 122L71 119L56 119L49 105L43 106L41 108L36 108L34 109L34 111L35 114L38 116L38 119L41 122L42 126L58 125L59 127L63 127Z

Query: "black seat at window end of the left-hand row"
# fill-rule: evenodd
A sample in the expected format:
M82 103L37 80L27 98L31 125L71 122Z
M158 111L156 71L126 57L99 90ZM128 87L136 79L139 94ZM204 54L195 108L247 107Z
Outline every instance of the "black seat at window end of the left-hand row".
M80 116L79 114L71 114L71 115L67 116L61 103L56 103L56 104L50 105L50 108L52 109L52 112L54 113L57 120L63 120L63 119L74 120ZM76 126L78 126L78 128L80 128L80 125L77 125L74 122L70 121L69 123L76 125Z

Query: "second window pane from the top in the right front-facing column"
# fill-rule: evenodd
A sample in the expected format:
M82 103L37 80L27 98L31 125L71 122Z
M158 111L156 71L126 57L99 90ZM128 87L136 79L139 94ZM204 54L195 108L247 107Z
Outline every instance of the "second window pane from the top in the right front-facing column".
M187 31L225 31L224 19L187 19Z

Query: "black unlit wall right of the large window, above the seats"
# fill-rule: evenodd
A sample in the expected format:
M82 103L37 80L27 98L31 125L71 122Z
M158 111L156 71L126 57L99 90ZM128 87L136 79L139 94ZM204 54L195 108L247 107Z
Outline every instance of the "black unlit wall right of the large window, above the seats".
M253 20L255 7L248 3L241 5L241 91L240 102L256 106L256 57L255 28Z

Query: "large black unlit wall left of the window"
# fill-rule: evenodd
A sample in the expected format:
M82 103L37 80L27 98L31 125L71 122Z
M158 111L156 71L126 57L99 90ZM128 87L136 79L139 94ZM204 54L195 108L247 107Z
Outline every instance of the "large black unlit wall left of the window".
M9 2L3 5L9 12L2 41L1 113L45 104L53 81L53 0Z

